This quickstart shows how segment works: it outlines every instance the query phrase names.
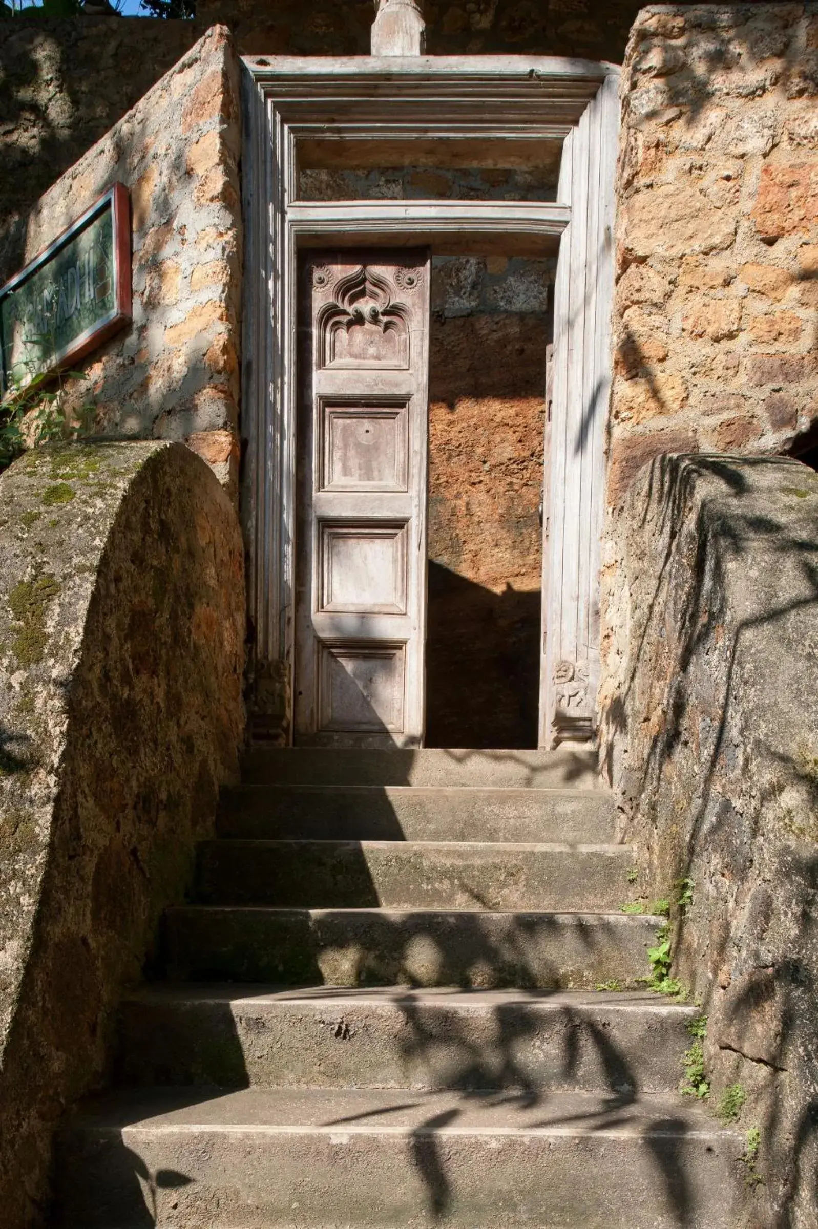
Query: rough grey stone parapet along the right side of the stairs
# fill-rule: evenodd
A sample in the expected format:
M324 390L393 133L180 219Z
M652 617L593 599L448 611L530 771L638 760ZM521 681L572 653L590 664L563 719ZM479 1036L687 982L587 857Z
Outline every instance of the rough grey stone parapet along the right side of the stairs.
M665 457L635 484L629 653L609 771L709 1015L711 1101L741 1082L761 1132L752 1223L818 1220L818 476L797 461Z

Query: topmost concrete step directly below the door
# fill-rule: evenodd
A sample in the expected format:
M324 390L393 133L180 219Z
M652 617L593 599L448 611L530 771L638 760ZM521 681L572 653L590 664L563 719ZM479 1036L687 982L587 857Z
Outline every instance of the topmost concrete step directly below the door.
M480 785L597 789L597 752L586 744L556 751L347 751L262 747L244 760L247 785Z

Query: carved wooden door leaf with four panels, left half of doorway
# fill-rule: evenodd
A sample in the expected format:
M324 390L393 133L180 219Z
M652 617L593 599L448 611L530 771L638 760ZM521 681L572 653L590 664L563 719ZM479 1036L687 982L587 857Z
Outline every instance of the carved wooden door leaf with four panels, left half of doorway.
M423 740L429 253L301 270L295 742Z

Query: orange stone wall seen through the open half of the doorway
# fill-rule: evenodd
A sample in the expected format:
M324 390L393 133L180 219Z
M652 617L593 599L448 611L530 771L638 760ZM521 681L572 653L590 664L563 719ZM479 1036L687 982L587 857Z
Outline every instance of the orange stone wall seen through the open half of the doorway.
M536 746L555 262L435 257L427 745Z

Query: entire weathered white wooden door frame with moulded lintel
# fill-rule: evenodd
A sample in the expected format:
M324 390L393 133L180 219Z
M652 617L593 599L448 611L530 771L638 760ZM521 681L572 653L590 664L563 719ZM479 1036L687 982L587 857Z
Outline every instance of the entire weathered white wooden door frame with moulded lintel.
M298 249L373 242L429 243L447 253L493 246L536 254L558 246L540 745L593 736L617 124L617 69L588 60L244 59L242 519L256 670L283 691L285 736L294 659ZM358 151L365 156L390 141L428 149L431 141L472 140L562 141L557 203L298 199L299 149L330 157L337 149L360 161Z

